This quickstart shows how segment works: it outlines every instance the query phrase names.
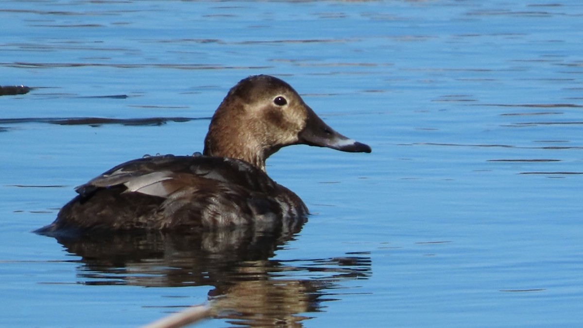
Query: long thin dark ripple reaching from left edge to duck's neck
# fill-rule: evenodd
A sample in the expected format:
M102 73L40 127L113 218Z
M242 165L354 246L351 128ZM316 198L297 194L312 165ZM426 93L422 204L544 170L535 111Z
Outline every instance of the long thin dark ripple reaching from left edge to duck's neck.
M90 125L100 126L104 124L121 125L162 125L167 122L188 122L210 117L148 117L148 118L102 118L102 117L73 117L73 118L3 118L0 124L19 123L48 123L58 125Z

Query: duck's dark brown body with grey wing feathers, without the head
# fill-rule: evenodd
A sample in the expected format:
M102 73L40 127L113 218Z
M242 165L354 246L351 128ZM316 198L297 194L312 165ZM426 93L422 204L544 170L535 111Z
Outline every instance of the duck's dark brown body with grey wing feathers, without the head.
M154 156L128 161L76 188L54 223L38 233L167 230L255 225L276 231L303 223L301 199L245 161Z

